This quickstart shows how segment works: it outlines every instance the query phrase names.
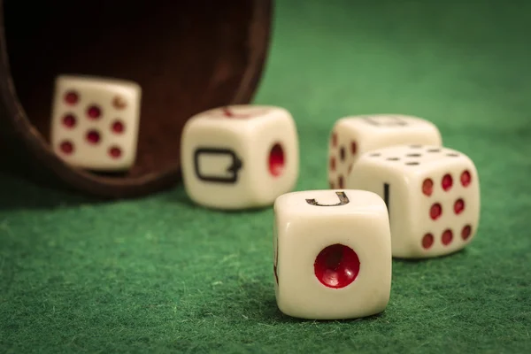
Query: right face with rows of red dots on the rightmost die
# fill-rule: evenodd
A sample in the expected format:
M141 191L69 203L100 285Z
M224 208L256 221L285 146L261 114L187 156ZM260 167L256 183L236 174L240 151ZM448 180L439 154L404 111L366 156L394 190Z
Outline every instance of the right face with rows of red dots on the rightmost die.
M473 161L450 149L424 148L412 214L415 247L408 258L437 257L462 250L472 242L480 218L480 186ZM431 152L428 152L431 151ZM428 155L428 156L427 156ZM426 167L423 167L426 165Z

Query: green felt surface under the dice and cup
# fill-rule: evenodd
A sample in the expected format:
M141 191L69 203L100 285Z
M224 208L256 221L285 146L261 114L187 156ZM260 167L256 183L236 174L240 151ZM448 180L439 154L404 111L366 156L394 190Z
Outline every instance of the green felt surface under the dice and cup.
M255 100L297 121L296 189L327 188L335 119L416 114L478 168L470 247L395 260L381 316L290 319L275 305L271 209L208 211L181 187L95 203L3 174L0 351L531 350L531 5L325 3L277 4Z

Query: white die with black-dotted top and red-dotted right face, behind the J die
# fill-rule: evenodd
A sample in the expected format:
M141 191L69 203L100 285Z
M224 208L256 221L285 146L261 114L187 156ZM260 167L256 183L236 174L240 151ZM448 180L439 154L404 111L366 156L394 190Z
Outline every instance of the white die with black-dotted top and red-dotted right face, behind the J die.
M461 250L479 225L478 173L457 150L397 145L367 152L352 168L347 187L370 190L386 201L396 258Z

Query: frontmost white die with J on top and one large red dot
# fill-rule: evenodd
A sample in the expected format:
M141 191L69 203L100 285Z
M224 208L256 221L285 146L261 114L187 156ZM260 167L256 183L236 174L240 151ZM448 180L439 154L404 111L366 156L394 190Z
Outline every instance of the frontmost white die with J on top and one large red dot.
M273 273L279 309L304 319L382 312L391 289L389 217L363 190L311 190L274 203Z

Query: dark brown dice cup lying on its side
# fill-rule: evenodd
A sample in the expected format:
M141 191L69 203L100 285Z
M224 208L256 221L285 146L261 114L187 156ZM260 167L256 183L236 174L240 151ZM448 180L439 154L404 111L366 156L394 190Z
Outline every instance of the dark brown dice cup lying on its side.
M181 181L187 119L252 99L266 63L272 12L273 0L0 0L4 169L104 198L172 187ZM129 171L93 173L53 153L50 112L61 73L142 86L138 152Z

